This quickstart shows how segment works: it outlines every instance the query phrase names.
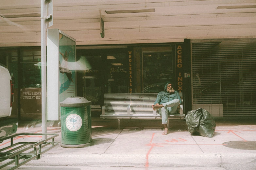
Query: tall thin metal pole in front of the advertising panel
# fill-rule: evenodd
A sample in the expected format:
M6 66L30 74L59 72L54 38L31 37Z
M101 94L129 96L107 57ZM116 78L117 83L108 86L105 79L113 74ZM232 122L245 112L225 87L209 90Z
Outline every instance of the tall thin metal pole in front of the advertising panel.
M45 0L41 0L41 83L42 83L42 133L47 133L47 115L46 115L46 11ZM46 139L46 135L42 135Z

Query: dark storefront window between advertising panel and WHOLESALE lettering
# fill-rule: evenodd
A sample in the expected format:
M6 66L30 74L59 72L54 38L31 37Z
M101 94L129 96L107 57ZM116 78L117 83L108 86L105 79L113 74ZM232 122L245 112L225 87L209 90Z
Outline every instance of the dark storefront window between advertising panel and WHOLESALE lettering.
M105 93L128 92L128 57L125 52L112 50L77 50L77 95L92 102L93 109L100 109Z

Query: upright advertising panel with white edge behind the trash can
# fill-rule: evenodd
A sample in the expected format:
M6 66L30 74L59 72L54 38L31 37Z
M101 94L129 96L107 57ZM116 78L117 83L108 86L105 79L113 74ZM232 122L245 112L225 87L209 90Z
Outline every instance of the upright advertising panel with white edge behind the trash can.
M59 103L75 96L76 40L59 29L47 29L47 120L59 120Z

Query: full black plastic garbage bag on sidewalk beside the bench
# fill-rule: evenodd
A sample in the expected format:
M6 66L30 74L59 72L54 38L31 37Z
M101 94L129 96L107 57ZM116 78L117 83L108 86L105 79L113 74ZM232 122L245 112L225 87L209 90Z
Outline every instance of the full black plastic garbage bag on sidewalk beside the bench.
M194 135L213 137L215 131L215 120L213 116L203 108L188 111L185 117L188 131Z

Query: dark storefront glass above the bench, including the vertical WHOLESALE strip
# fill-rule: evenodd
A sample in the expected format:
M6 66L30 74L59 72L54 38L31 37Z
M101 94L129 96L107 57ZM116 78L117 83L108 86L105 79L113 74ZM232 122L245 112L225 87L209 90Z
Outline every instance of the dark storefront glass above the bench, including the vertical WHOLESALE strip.
M174 59L172 46L78 49L77 63L86 69L77 71L77 95L100 109L106 93L158 93L174 80Z

